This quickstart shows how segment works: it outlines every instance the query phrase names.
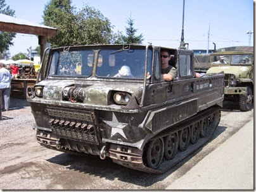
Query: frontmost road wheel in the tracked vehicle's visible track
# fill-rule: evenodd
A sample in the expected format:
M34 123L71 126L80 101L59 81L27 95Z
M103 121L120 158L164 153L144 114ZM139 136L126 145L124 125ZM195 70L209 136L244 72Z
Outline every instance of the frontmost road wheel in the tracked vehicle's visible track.
M146 153L148 167L157 169L163 160L163 139L157 138L150 141Z

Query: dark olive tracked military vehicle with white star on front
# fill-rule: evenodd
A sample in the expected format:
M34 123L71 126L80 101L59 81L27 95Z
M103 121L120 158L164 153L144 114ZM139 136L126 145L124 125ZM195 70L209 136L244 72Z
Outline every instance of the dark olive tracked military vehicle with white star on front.
M173 81L160 78L162 49L177 69ZM43 147L162 173L205 145L219 124L224 75L195 78L193 51L81 45L44 55L27 89Z

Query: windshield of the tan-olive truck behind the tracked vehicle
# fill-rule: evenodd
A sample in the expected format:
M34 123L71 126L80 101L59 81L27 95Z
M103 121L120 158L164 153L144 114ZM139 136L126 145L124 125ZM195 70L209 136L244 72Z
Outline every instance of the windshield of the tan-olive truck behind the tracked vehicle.
M212 64L252 64L252 55L250 54L231 54L210 57Z

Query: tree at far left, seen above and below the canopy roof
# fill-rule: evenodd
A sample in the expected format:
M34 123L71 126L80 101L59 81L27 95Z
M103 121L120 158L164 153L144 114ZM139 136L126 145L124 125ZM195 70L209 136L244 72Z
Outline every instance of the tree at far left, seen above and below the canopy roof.
M0 13L4 15L14 16L15 11L10 9L10 6L6 6L5 0L0 0ZM13 45L13 38L15 38L16 33L11 32L0 32L0 53L9 50L9 47Z

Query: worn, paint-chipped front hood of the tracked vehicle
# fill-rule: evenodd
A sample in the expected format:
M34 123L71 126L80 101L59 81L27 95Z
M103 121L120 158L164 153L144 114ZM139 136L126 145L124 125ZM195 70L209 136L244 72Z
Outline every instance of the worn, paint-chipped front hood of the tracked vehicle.
M77 95L82 95L86 104L108 105L113 92L128 92L137 98L141 97L143 83L124 83L115 81L72 81L72 80L44 80L35 86L42 86L43 97L47 100L63 100L63 90L79 87Z

